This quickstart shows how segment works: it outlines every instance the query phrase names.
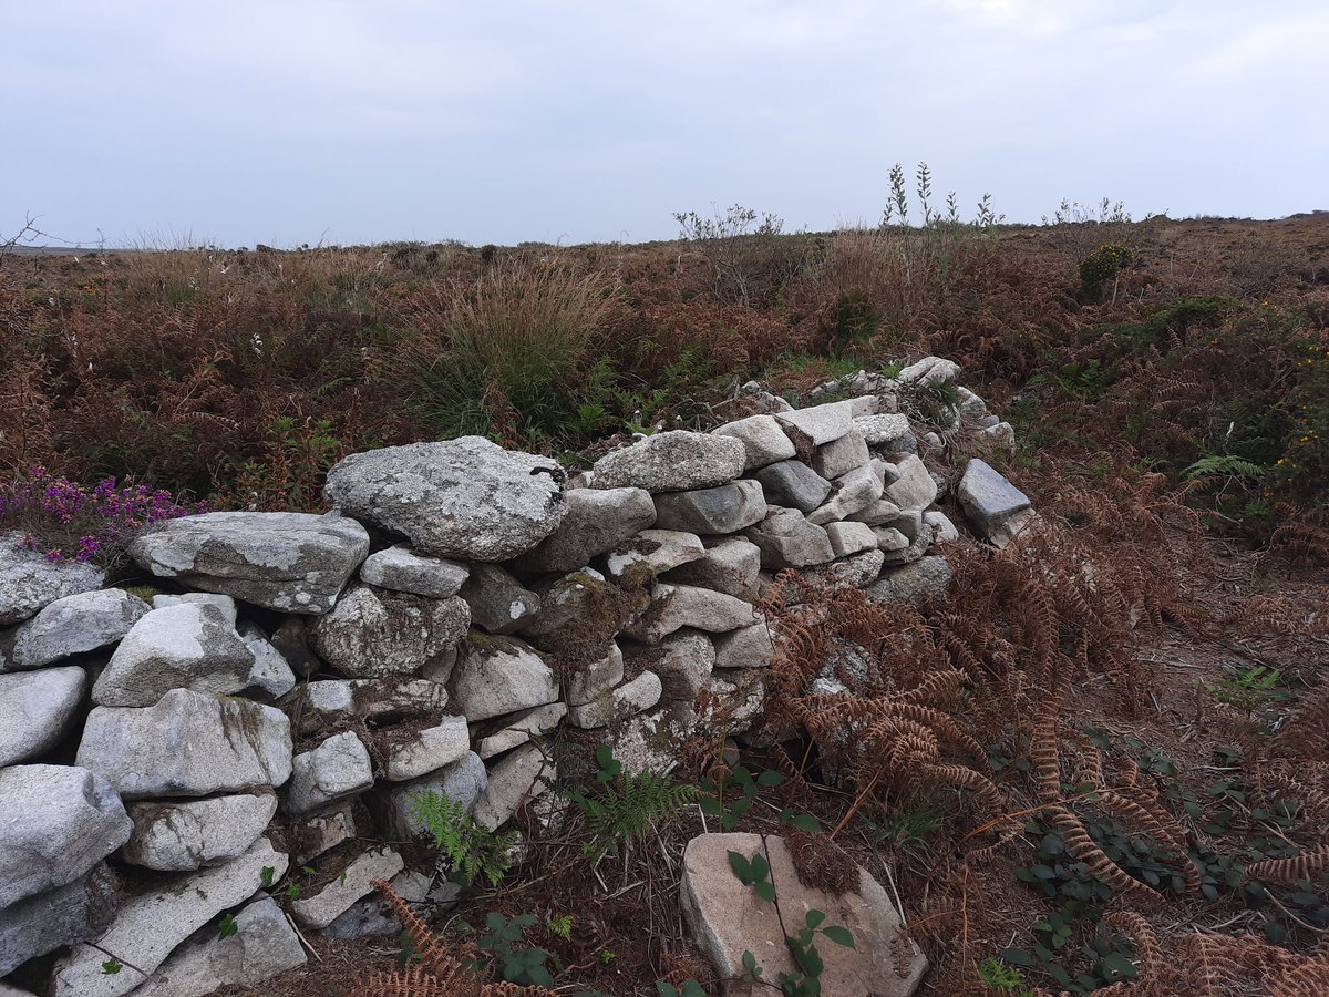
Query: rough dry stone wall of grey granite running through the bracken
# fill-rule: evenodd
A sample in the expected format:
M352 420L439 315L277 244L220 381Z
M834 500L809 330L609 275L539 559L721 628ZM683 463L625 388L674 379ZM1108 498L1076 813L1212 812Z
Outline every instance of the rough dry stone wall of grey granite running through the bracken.
M306 958L264 891L288 867L336 856L290 905L307 933L395 931L379 877L451 899L381 844L423 830L421 794L497 828L556 775L540 740L561 724L638 770L671 767L718 709L742 731L777 572L945 593L960 530L920 456L942 441L908 408L957 374L860 372L799 409L750 386L758 413L639 437L571 480L480 437L358 453L330 472L326 516L140 536L150 600L0 537L0 988L253 985ZM953 439L1010 439L952 396ZM957 498L998 545L1033 517L977 459Z

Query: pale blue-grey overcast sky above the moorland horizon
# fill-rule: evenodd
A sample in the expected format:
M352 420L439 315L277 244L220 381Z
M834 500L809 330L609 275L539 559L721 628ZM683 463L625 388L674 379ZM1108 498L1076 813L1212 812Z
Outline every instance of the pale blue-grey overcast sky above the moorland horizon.
M0 239L672 238L1329 209L1325 0L0 0Z

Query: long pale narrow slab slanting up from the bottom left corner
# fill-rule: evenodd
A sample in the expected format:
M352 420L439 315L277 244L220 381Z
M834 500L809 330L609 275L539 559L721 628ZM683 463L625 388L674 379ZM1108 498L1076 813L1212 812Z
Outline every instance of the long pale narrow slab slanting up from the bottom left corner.
M110 929L93 944L76 945L56 961L53 997L120 997L152 974L190 935L217 915L245 903L266 873L275 883L286 875L287 857L259 837L225 865L185 873L124 900ZM122 964L106 973L106 953Z

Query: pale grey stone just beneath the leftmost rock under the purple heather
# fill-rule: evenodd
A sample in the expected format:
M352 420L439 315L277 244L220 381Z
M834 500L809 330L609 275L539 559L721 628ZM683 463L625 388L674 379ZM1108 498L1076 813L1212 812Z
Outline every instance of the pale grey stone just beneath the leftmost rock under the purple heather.
M65 596L19 627L13 667L40 669L116 643L146 613L148 604L124 589Z

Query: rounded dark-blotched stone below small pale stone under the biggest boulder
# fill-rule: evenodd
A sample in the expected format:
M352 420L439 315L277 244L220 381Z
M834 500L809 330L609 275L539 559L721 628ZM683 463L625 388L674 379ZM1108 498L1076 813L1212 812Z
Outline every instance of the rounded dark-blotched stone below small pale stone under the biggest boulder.
M348 678L409 675L449 651L470 626L465 600L355 585L310 629L310 642Z

